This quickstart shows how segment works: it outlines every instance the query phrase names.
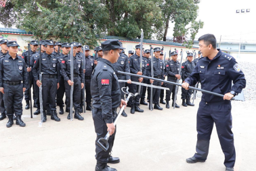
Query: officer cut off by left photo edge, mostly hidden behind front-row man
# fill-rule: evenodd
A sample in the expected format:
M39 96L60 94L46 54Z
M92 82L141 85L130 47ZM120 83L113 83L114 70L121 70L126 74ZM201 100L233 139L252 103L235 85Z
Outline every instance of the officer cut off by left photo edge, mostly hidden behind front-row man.
M4 57L5 55L7 55L8 50L7 50L7 39L2 39L0 41L0 47L1 47L1 51L0 51L0 59L2 57ZM0 120L3 120L4 118L6 118L5 115L5 105L3 103L3 93L0 92L0 112L1 112L1 116L0 116Z

